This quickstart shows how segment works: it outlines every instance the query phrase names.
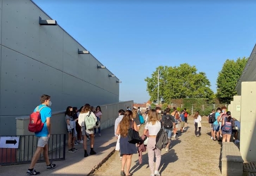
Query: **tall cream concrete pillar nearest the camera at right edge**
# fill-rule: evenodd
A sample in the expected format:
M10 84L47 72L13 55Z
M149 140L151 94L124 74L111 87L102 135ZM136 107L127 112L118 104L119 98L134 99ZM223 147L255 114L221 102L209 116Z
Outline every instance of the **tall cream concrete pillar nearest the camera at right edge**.
M245 162L256 162L256 81L241 83L240 152Z

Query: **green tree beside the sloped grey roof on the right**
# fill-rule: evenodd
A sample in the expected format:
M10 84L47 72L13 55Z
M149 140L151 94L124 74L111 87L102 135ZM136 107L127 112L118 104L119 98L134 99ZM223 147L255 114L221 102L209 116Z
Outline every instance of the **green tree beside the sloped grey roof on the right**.
M217 78L216 97L221 103L230 103L237 94L236 84L239 80L248 58L238 58L236 61L227 59Z

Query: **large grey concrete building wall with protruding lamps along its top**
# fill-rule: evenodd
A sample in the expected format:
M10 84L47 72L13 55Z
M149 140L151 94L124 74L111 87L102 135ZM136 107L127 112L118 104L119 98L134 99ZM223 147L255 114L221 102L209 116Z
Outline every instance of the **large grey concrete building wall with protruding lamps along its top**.
M119 102L119 79L31 0L0 0L0 19L0 135L42 94L53 112Z

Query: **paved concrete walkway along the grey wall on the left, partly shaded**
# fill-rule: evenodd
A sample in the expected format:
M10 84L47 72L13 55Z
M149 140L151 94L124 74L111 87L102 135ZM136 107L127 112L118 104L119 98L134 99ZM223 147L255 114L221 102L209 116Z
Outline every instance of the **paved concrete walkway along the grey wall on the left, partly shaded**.
M46 170L45 162L37 163L35 169L41 176L87 176L98 165L105 161L116 147L116 138L114 136L114 127L102 130L102 136L95 137L94 150L96 155L84 158L83 145L75 145L79 149L76 153L68 153L66 147L66 160L55 161L56 168L50 171ZM90 152L90 140L87 141L87 150ZM26 175L29 164L16 164L0 166L0 176L22 176Z

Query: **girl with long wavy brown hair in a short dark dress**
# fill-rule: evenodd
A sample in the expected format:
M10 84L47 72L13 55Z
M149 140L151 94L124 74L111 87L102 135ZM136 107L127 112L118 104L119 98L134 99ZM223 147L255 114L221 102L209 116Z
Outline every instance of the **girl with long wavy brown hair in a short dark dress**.
M120 135L120 154L122 155L122 169L120 172L121 176L131 176L131 157L132 154L137 153L136 145L128 142L128 129L133 127L135 131L138 131L137 124L132 120L133 114L131 110L126 110L125 115L120 121L116 135ZM125 173L126 164L126 173Z

